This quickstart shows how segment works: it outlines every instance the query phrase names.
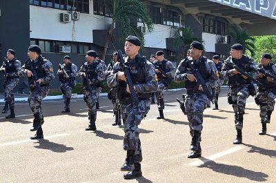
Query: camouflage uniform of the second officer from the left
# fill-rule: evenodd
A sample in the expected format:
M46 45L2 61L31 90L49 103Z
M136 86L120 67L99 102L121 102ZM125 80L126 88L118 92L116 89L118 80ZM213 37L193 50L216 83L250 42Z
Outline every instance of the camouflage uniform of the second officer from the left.
M37 73L37 79L41 79L41 84L39 88L34 84L33 77L28 77L29 84L29 97L28 102L32 113L34 114L33 128L31 131L37 131L37 135L43 137L43 131L41 125L44 122L43 114L41 110L41 102L44 97L48 95L50 88L50 81L55 78L54 70L52 68L52 63L47 59L44 59L39 55L37 60L28 59L25 64L20 68L18 74L19 76L26 76L28 70L32 70L30 66L30 61L34 70Z

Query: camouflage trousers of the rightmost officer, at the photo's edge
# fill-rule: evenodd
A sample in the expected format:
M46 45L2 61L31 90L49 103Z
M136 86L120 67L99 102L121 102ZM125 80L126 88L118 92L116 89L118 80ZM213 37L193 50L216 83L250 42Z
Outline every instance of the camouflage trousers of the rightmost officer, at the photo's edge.
M259 99L259 117L261 117L261 122L264 122L266 117L266 113L269 111L274 110L275 106L275 94L273 92L265 91L265 92L258 92L256 95L257 99Z

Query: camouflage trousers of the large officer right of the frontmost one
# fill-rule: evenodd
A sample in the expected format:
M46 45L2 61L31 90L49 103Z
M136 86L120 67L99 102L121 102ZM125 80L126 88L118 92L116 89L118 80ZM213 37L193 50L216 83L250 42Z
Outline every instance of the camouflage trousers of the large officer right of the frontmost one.
M203 113L206 108L210 107L210 99L204 93L194 93L185 96L184 105L190 134L193 136L193 131L202 131L203 129Z

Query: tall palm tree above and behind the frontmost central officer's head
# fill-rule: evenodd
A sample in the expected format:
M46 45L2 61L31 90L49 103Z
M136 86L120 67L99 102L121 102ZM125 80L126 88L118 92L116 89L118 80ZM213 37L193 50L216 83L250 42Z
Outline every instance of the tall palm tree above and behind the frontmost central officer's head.
M112 22L110 28L108 28L108 39L103 49L103 60L106 57L108 49L108 43L112 38L114 32L115 23L120 23L122 32L121 40L124 40L128 35L135 35L141 40L142 46L144 46L144 34L137 28L137 23L132 19L139 19L146 25L148 32L153 30L153 23L148 15L148 10L144 3L139 0L102 0L106 8L111 13Z

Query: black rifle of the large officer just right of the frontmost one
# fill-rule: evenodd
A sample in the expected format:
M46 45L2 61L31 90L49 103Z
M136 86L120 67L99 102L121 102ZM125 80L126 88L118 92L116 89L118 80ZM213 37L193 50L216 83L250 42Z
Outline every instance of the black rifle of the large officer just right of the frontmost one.
M213 95L210 93L210 90L208 89L208 86L206 85L206 82L204 81L203 77L199 73L199 71L192 66L191 61L188 61L188 66L190 67L190 71L195 75L195 78L197 79L197 85L195 88L198 88L199 85L203 88L203 92L207 95L208 99L214 104L213 102Z

